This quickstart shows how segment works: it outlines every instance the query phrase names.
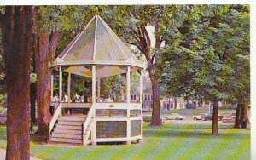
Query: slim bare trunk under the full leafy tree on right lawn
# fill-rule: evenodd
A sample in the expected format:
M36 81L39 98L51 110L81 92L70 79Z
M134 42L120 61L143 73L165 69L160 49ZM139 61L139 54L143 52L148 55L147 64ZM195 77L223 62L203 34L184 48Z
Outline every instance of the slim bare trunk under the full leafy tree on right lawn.
M212 135L218 135L218 99L213 100Z

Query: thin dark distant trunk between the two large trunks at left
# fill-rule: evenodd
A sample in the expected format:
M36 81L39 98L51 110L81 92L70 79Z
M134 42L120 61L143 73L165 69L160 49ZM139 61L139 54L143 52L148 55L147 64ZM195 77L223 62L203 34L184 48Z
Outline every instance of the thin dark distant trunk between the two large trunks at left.
M30 84L30 117L32 123L36 123L36 98L37 98L37 83Z

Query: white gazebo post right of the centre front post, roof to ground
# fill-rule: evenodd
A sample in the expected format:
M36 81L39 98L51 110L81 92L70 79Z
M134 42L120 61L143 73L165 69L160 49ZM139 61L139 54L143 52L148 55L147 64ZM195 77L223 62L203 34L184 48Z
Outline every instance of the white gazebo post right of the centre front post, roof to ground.
M130 79L131 79L131 67L127 66L127 72L126 72L126 100L127 100L127 117L130 117L130 100L131 100L131 94L130 94ZM130 118L127 119L127 141L126 144L131 144L131 120Z

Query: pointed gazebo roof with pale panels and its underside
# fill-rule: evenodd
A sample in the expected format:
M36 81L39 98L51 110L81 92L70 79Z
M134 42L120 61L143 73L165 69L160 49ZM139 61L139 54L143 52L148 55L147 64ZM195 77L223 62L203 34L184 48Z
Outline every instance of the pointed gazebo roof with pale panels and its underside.
M99 15L94 16L84 31L73 38L56 58L52 67L69 66L66 72L90 77L91 71L84 66L91 65L102 66L97 71L97 77L125 72L120 66L143 68L143 64Z

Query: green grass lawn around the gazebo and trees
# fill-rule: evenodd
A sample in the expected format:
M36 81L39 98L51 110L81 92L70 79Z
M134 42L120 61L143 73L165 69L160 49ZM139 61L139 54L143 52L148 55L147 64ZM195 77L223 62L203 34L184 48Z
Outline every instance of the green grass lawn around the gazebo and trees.
M250 129L219 124L212 137L211 123L174 124L153 128L143 124L143 143L131 146L49 146L31 142L31 155L42 159L250 159ZM6 147L5 127L0 127L0 147Z

